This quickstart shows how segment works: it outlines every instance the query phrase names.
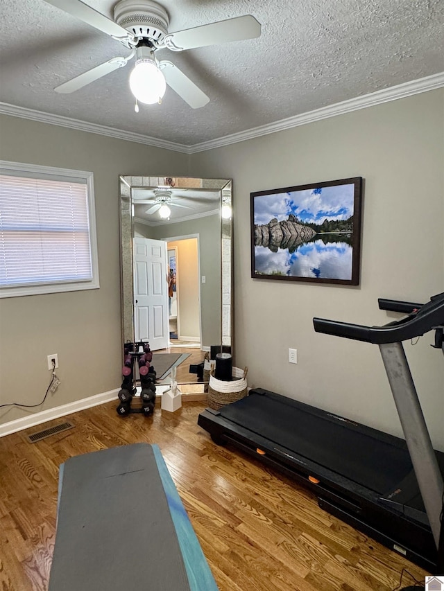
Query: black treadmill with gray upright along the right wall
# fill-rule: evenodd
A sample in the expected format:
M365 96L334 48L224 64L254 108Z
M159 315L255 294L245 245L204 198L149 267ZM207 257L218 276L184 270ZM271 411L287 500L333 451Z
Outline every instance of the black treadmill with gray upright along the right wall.
M402 341L435 330L444 353L444 293L424 305L379 299L407 316L386 326L314 318L314 329L378 344L405 439L257 388L198 425L310 488L318 504L429 572L443 564L444 453L433 450ZM419 484L418 484L419 483ZM441 542L440 542L441 540Z

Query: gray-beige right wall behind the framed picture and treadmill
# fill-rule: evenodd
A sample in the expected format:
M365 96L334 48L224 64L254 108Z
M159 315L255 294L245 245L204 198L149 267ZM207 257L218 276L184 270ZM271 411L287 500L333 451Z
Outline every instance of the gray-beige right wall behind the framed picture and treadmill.
M249 385L402 433L377 346L314 333L312 318L384 324L378 297L444 291L443 107L438 89L194 155L192 175L234 179L235 352ZM250 191L355 176L365 179L359 287L250 279ZM431 342L405 348L444 450L444 360Z

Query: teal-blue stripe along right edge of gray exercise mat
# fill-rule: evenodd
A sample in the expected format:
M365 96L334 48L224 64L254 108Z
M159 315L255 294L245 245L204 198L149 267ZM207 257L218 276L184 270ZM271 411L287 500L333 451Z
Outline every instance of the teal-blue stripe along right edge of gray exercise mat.
M159 446L152 445L191 591L219 591Z

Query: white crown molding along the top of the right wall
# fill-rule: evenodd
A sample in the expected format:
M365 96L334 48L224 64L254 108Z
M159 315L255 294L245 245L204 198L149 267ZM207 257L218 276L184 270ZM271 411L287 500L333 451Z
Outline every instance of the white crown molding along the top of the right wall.
M195 154L196 152L203 152L204 150L213 150L214 148L222 148L225 145L232 143L238 143L239 141L246 141L248 139L255 139L260 136L267 134L273 134L283 130L289 130L298 125L306 125L307 123L314 123L315 121L321 121L329 117L336 115L343 115L358 109L366 109L366 107L374 107L381 103L388 103L390 100L398 100L398 98L406 98L413 94L419 94L421 92L427 92L429 90L435 90L444 86L444 72L434 74L433 76L427 76L426 78L419 78L412 82L404 82L398 86L386 88L384 90L378 90L371 94L364 94L357 98L351 98L350 100L344 100L342 103L336 103L329 107L323 107L302 113L294 117L287 119L281 119L274 123L268 123L267 125L260 125L259 127L253 127L253 129L246 130L224 136L218 139L210 141L204 141L202 143L196 143L189 146L189 154Z

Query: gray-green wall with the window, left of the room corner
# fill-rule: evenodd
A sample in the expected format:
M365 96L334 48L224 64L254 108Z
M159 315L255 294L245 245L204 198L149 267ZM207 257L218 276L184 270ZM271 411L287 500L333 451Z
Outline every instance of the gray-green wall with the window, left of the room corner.
M62 381L37 409L0 409L0 423L119 387L119 175L187 175L187 155L0 116L0 159L92 170L100 289L0 300L1 403L42 400L58 353ZM149 163L149 170L147 164Z

